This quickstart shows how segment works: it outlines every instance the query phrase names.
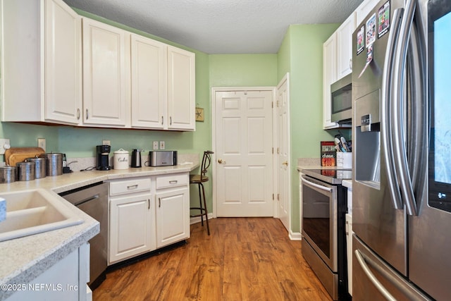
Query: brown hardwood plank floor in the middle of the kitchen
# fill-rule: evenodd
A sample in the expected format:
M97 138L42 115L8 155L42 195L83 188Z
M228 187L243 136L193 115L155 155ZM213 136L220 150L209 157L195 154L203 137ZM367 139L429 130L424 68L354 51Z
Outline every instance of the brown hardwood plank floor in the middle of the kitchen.
M109 272L93 300L331 300L278 219L210 219L187 244Z

